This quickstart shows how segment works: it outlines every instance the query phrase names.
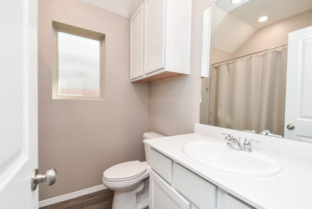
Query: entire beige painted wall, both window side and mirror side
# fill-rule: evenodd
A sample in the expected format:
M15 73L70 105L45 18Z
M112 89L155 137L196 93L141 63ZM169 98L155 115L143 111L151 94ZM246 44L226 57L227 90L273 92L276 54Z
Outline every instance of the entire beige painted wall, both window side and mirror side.
M39 200L100 185L117 163L144 159L142 133L191 133L199 122L202 12L193 0L191 74L129 82L129 19L78 0L39 0L39 170L56 167ZM106 34L106 101L52 100L52 21Z

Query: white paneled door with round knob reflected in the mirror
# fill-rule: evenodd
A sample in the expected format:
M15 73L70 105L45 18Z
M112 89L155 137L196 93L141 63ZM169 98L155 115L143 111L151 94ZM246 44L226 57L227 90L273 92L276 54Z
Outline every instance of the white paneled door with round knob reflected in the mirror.
M312 26L290 33L288 44L284 135L312 142Z

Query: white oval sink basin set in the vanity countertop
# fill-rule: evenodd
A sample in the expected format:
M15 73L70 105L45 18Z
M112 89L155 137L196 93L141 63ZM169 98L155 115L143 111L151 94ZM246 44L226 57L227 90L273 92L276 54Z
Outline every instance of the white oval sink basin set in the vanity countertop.
M273 176L279 164L260 152L245 152L226 146L226 142L196 141L183 146L184 153L196 162L218 170L247 176Z

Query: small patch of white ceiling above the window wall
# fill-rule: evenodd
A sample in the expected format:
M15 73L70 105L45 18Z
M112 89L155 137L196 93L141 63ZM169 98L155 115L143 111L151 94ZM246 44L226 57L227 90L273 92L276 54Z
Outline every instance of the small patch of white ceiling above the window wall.
M137 0L80 0L94 6L128 17Z

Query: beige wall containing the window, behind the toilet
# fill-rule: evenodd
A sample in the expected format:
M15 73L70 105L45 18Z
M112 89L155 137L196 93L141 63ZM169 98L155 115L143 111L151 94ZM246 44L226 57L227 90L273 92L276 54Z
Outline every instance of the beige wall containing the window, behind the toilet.
M106 34L106 101L52 100L52 21ZM58 171L39 200L102 184L117 163L144 161L148 85L129 82L129 19L78 0L39 0L39 170Z

